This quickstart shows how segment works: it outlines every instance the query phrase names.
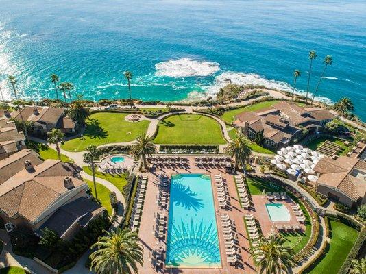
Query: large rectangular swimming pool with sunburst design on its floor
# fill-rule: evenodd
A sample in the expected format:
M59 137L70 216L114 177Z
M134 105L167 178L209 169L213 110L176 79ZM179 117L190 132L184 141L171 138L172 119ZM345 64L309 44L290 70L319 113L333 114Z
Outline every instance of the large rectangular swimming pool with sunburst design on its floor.
M171 176L167 267L221 267L210 175Z

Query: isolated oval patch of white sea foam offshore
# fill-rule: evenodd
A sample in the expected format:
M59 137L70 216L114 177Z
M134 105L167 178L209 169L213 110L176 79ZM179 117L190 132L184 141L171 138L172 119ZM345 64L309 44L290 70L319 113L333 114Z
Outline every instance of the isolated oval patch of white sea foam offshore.
M220 69L218 63L197 61L190 58L160 62L155 65L155 68L156 76L168 77L209 76Z

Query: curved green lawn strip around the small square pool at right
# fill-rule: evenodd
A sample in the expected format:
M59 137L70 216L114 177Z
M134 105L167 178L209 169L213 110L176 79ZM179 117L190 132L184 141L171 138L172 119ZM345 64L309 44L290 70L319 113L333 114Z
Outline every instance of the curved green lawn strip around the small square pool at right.
M249 192L251 195L262 195L263 189L265 192L286 192L284 188L273 184L272 182L267 182L264 179L257 179L257 178L247 178L247 185L249 188ZM288 193L289 194L289 193ZM306 229L305 232L302 233L282 233L282 236L286 238L288 241L285 245L293 247L295 252L300 251L303 247L305 247L306 243L310 239L311 234L311 222L310 216L306 208L302 205L300 201L296 197L291 196L296 203L300 204L302 212L306 217L305 225Z

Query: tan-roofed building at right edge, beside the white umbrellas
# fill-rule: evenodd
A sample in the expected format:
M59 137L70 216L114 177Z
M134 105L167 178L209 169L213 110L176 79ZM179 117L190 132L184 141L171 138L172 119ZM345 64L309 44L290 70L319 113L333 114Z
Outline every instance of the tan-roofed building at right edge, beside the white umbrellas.
M314 167L319 179L317 192L328 198L356 206L366 203L366 161L340 156L337 160L324 157Z

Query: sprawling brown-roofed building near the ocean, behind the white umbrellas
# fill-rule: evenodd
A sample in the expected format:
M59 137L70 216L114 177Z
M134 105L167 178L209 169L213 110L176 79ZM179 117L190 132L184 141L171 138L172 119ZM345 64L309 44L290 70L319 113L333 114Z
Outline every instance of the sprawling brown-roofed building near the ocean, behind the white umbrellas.
M234 127L252 140L263 136L267 147L286 147L306 134L319 132L332 119L334 115L324 108L302 108L280 101L269 108L236 115Z

